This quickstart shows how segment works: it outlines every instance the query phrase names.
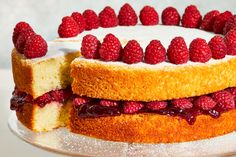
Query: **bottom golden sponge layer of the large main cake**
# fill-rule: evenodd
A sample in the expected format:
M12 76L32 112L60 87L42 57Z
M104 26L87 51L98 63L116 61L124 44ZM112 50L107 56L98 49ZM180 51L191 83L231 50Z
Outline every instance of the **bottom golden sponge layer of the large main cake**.
M122 114L115 117L79 118L72 109L72 132L104 140L139 143L173 143L200 140L236 130L236 109L213 119L199 115L194 125L185 119L158 114Z

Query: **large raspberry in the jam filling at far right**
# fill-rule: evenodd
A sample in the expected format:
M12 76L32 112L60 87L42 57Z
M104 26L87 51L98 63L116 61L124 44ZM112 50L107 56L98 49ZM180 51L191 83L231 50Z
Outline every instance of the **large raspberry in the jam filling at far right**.
M223 109L235 108L234 96L226 90L213 93L212 98Z

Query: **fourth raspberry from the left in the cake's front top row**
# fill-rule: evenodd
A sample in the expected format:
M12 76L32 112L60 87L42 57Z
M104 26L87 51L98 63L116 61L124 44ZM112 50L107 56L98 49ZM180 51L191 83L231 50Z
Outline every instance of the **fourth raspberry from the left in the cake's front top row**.
M166 49L159 40L152 40L148 44L144 60L148 64L157 64L166 60Z

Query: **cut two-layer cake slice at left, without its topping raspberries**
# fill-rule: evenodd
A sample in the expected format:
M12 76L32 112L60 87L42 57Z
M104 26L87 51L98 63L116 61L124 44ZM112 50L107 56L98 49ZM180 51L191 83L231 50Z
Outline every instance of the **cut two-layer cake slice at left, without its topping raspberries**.
M71 108L70 63L80 55L77 42L48 42L46 56L28 59L12 51L15 91L11 109L33 131L66 126Z

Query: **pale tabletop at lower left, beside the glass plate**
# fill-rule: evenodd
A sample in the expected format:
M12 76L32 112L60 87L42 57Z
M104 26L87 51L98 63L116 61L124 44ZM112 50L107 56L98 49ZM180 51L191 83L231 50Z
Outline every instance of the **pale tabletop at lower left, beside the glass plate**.
M7 121L12 111L9 109L14 83L11 70L0 69L0 98L2 101L0 108L0 156L8 157L62 157L62 155L47 152L34 147L13 135L8 129Z

